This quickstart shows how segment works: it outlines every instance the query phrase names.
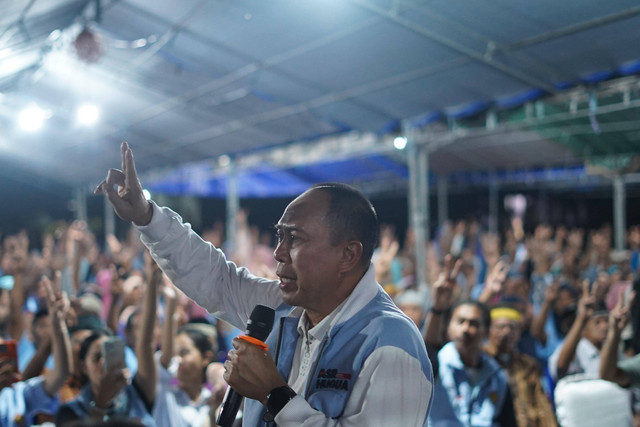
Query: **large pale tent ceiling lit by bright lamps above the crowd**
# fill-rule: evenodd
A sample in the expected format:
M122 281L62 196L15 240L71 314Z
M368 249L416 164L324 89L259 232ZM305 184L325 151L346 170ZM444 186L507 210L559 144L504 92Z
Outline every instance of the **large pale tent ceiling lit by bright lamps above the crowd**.
M74 50L85 26L101 39L94 63ZM119 164L123 139L149 172L387 134L425 114L624 74L639 46L637 0L5 0L0 162L89 187ZM100 107L96 126L75 123L84 102ZM26 133L16 122L32 103L49 118ZM445 172L577 161L528 131L435 159Z

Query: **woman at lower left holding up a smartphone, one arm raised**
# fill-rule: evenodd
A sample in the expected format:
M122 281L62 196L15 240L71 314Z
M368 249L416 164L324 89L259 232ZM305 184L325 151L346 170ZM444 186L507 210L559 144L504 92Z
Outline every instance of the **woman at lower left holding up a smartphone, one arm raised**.
M133 381L129 381L125 364L124 341L112 337L106 330L92 333L83 341L78 354L82 390L60 408L56 425L72 425L86 418L93 421L136 419L145 426L156 425L151 416L157 381L152 337L157 283L162 280L162 272L150 257L146 270L151 283L142 302L142 322L136 342L138 372Z

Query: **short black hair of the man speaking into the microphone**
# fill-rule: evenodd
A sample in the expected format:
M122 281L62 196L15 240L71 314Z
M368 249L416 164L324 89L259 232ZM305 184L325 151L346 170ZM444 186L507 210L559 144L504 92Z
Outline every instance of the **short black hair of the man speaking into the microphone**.
M331 227L331 243L358 240L362 244L360 264L367 268L378 244L378 216L373 205L356 188L339 182L315 184L311 190L329 194L331 202L325 221Z

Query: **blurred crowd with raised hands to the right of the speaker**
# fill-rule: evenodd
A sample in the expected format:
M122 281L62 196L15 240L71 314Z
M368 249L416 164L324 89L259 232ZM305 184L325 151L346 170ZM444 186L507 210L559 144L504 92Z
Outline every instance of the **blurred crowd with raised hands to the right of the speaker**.
M616 251L608 225L447 223L421 289L411 234L401 249L384 231L376 275L424 333L432 425L640 425L640 227L626 237Z

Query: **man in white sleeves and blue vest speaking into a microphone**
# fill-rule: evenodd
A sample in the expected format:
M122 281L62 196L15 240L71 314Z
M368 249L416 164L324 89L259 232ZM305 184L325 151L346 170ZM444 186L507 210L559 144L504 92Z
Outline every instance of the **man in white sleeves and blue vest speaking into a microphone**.
M121 151L123 171L111 169L97 192L138 226L173 283L238 328L257 304L276 309L269 351L235 339L225 362L225 380L250 398L244 425L426 425L431 365L418 329L375 281L377 217L360 192L320 184L291 202L276 226L280 280L260 279L146 201L131 149Z

